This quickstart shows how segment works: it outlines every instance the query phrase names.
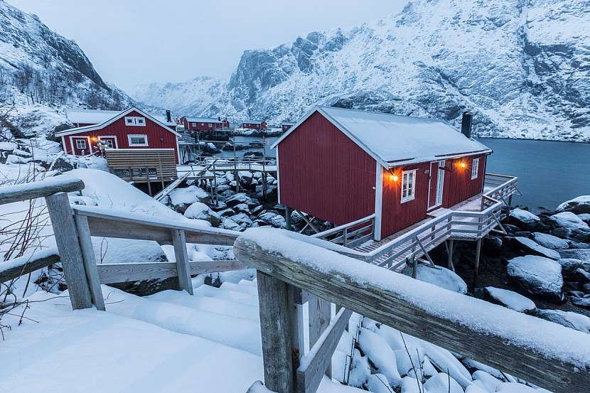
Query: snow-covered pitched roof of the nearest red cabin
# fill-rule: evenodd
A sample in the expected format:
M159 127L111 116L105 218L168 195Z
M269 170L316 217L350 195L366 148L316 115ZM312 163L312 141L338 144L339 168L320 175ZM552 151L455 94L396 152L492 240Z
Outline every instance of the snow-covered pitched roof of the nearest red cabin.
M316 111L385 167L491 152L442 120L321 106L299 119L273 147Z

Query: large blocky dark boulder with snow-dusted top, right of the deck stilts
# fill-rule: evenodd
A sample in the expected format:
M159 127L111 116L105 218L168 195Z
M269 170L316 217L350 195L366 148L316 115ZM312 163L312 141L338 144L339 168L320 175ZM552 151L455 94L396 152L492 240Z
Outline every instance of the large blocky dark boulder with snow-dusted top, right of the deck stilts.
M508 261L508 279L532 296L563 301L562 265L553 259L527 255Z

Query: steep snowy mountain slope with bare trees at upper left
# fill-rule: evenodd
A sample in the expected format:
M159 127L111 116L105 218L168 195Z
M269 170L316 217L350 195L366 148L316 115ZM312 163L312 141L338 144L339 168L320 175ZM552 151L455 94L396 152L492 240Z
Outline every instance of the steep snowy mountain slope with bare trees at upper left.
M98 74L85 53L0 0L0 114L23 134L47 134L67 122L64 107L122 109L133 100Z

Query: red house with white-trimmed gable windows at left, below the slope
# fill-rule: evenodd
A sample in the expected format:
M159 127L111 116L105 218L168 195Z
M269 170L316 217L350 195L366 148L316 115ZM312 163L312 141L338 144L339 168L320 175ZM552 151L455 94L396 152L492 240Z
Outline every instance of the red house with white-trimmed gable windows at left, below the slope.
M100 124L56 132L65 153L74 156L94 154L102 142L112 149L174 149L178 163L179 134L166 123L135 107L123 112L108 112L109 118Z

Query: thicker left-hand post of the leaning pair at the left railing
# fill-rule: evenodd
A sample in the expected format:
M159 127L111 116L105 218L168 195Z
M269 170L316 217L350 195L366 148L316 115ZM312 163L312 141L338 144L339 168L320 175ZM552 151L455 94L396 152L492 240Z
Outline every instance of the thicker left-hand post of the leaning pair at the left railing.
M53 226L55 243L58 245L63 266L63 276L68 283L70 301L74 310L90 308L92 298L82 263L82 250L78 242L70 200L67 193L45 197L47 210Z

